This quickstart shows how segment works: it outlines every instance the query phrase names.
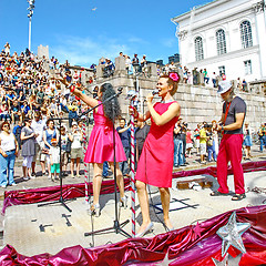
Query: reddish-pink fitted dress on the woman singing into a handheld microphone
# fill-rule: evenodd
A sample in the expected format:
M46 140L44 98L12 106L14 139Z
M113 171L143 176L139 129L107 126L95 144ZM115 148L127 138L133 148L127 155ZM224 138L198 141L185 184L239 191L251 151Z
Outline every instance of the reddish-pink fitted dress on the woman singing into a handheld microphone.
M154 110L163 114L168 110L170 103L155 103ZM157 187L172 186L172 172L174 164L174 126L177 116L164 125L156 125L152 120L151 130L143 145L137 164L135 180Z

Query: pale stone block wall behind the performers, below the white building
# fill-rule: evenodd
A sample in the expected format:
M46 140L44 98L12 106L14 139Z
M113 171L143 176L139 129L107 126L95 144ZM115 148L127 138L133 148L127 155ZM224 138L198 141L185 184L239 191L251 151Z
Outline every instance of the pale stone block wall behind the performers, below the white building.
M120 86L123 88L123 93L120 95L120 103L123 115L129 119L127 110L130 100L126 100L127 92L135 90L136 84L139 84L139 110L140 112L143 112L143 110L146 111L147 108L143 100L145 95L155 89L157 76L136 78L133 75L119 74L112 78L98 79L96 83L93 82L93 84L89 86L89 90L92 91L95 85L101 85L105 82L110 82L115 90ZM234 83L236 84L236 82ZM248 92L244 92L235 89L235 92L247 103L246 121L249 122L252 127L258 129L262 122L266 122L266 98L262 84L248 85ZM174 98L181 105L181 116L192 129L200 122L218 121L221 119L223 103L215 88L180 83ZM156 96L155 99L158 100Z

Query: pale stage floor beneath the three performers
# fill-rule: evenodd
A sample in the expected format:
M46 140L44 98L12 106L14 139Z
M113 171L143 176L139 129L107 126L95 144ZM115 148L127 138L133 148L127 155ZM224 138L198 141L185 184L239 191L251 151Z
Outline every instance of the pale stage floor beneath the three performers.
M197 177L206 177L201 175ZM190 224L201 223L218 214L241 208L245 206L262 205L266 200L266 194L248 192L247 197L241 202L231 201L231 196L211 197L212 190L217 188L216 178L207 176L213 181L212 188L201 191L177 190L176 182L190 180L192 177L173 180L171 190L171 221L175 228L181 228ZM195 176L193 176L195 178ZM246 187L265 187L265 172L245 173ZM233 176L228 177L231 191L234 191ZM129 200L130 192L126 193ZM151 192L151 217L154 222L153 233L145 237L152 237L155 234L165 233L160 219L163 219L160 205L160 194L157 190ZM93 229L112 227L115 218L114 194L101 195L100 198L102 213L100 217L93 217L89 214L89 205L84 198L65 202L72 209L69 212L61 203L38 206L38 204L10 206L4 215L4 235L3 245L12 245L18 253L25 256L33 256L42 253L52 255L61 249L74 245L83 247L100 246L109 243L116 243L125 239L122 234L116 234L113 229L101 235L84 236L84 233ZM130 203L130 201L129 201ZM153 207L153 206L154 207ZM127 207L119 208L120 223L130 219L123 229L131 235L131 209ZM142 222L140 205L136 198L136 231Z

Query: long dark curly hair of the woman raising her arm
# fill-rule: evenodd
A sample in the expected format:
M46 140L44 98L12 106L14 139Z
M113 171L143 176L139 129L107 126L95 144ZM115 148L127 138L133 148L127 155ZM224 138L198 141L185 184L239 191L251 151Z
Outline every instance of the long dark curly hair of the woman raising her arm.
M102 84L100 90L102 92L102 101L103 102L108 98L115 94L115 91L114 91L112 84L110 84L110 83ZM103 103L104 115L110 120L113 120L113 114L114 114L114 120L121 116L121 108L120 108L117 96L113 98L113 101L114 101L114 110L112 108L112 101L108 101L108 102Z

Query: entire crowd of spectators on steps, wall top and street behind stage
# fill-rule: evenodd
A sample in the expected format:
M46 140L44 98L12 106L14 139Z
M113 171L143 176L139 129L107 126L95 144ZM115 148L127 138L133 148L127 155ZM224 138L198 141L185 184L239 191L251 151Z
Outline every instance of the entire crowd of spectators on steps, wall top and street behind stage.
M145 54L141 60L139 60L136 53L132 59L122 52L120 57L125 59L127 73L141 73L144 76L149 76L149 61ZM102 59L100 64L103 64L104 76L113 75L115 65L110 59ZM91 69L95 74L96 65L92 64ZM208 75L206 69L197 71L195 68L193 71L190 71L186 66L182 68L174 62L164 66L157 66L157 74L168 72L182 72L182 82L191 84L203 85L212 82L213 86L216 86L219 79L226 79L224 74L219 76L215 73ZM25 181L35 177L37 161L40 162L41 174L47 175L51 181L55 181L58 178L57 173L59 173L59 133L61 133L62 144L62 175L68 174L68 163L70 163L71 176L80 176L82 158L81 127L83 122L80 121L79 114L86 111L88 106L71 95L70 90L59 82L59 79L65 79L69 83L81 83L81 71L71 69L68 60L65 63L60 64L54 57L51 59L39 58L28 49L20 54L17 52L11 54L9 43L1 51L0 120L6 123L1 126L1 145L4 146L4 140L9 140L8 137L14 139L11 142L13 143L11 154L9 154L11 150L0 151L1 160L4 161L1 165L8 165L8 167L4 166L6 168L1 167L1 173L3 173L3 176L11 176L9 181L1 177L0 185L2 187L6 187L8 184L14 185L12 180L13 163L19 151L23 157L22 177ZM86 82L91 84L94 82L94 79L95 75L92 75ZM245 80L243 82L245 83ZM241 84L239 79L238 84ZM53 120L59 117L63 119L61 127L59 127L58 120ZM213 122L213 124L215 123ZM142 129L143 126L140 125L139 127ZM9 127L10 136L7 133L8 131L4 131L4 127ZM218 151L218 134L214 129L215 125L206 127L205 123L203 123L192 131L184 122L178 121L174 132L175 166L186 164L186 156L190 157L192 155L194 147L201 154L202 163L206 162L206 154L208 161L215 161ZM258 134L260 150L266 146L265 132L266 130L260 130ZM250 144L248 141L246 143L246 146ZM10 149L9 145L7 146ZM248 158L250 157L248 147L246 147L246 157ZM126 152L129 151L126 150ZM126 165L121 165L121 167L123 167L124 174L127 175L129 168Z

